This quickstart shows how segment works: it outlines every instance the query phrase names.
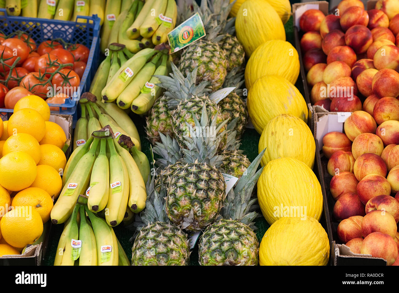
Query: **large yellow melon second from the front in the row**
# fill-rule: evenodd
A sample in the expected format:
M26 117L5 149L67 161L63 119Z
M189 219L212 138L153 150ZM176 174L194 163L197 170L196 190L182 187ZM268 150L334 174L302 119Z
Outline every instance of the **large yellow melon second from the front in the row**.
M258 180L262 214L273 224L284 216L311 216L320 220L323 195L320 183L304 162L289 157L270 161Z

